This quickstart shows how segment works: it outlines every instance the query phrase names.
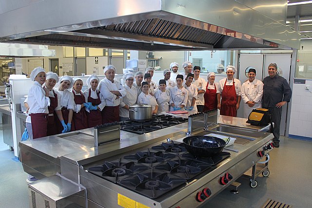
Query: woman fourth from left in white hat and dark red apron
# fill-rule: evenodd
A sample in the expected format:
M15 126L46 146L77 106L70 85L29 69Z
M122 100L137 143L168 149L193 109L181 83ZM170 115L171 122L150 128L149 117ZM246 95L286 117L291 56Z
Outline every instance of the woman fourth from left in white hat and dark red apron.
M90 104L86 102L85 97L81 92L82 86L82 79L75 77L72 90L75 101L75 112L73 113L75 131L88 128L88 120L85 108L89 108Z

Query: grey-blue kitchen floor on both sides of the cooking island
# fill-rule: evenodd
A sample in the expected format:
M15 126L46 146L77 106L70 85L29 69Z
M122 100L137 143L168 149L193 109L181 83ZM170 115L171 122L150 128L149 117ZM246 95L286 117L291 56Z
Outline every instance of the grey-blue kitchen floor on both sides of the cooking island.
M2 133L0 132L0 135ZM238 194L228 189L211 199L204 208L261 208L267 199L312 207L312 142L281 138L280 148L271 151L269 177L259 176L252 189L249 179L238 179ZM0 208L29 208L25 173L21 163L12 160L14 152L0 137Z

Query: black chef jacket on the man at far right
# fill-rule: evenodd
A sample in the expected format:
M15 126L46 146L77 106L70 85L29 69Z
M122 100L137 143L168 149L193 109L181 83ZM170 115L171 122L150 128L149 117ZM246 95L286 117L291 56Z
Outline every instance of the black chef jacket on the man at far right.
M287 80L279 75L267 76L263 79L263 101L264 107L275 107L281 101L289 102L292 97L292 89Z

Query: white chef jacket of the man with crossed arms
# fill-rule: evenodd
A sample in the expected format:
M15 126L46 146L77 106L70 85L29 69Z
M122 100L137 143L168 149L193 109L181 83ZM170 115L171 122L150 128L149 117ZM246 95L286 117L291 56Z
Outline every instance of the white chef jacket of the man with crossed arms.
M120 98L127 94L127 91L117 81L117 79L114 79L113 83L106 77L99 82L98 89L105 98L106 106L118 106L120 104ZM119 91L121 97L119 97L119 99L116 99L117 95L114 95L110 91Z

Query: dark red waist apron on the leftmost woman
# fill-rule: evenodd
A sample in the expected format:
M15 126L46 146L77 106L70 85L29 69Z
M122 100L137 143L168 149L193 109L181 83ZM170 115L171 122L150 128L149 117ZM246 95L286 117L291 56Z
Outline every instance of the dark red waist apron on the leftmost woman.
M31 113L29 115L33 130L33 139L47 136L48 113Z

